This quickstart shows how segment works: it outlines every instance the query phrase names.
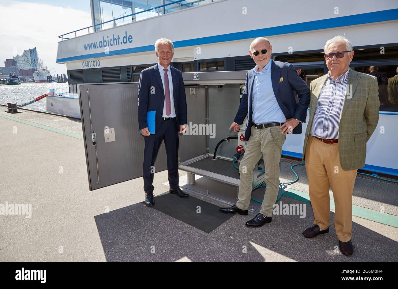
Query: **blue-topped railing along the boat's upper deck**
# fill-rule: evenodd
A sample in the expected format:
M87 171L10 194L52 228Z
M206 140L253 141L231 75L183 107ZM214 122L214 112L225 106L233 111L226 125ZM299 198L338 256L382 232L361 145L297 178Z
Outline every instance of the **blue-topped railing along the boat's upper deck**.
M90 33L95 33L95 32L98 32L98 31L102 31L103 30L102 29L102 25L103 24L106 24L106 23L109 23L109 22L114 22L116 20L120 20L120 19L127 18L127 17L133 17L135 15L146 13L146 12L156 12L157 11L158 16L162 16L162 15L167 14L166 10L163 10L164 13L161 12L161 8L164 8L166 6L171 6L171 5L178 4L178 7L176 7L176 8L173 7L172 9L170 9L170 10L178 11L178 10L182 10L183 6L195 5L196 3L197 3L197 5L199 5L199 3L202 2L202 1L205 1L205 0L196 0L196 1L192 1L192 2L189 2L187 0L177 0L177 1L174 1L174 2L167 3L167 4L154 6L154 7L148 8L146 10L142 10L140 12L135 12L135 13L132 13L132 14L129 14L129 15L125 15L125 16L119 17L119 18L114 18L112 20L104 21L104 22L101 22L101 23L98 23L98 24L95 24L95 25L91 25L91 26L84 27L84 28L81 28L81 29L78 29L78 30L75 30L75 31L71 31L71 32L59 35L58 38L60 38L61 41L63 41L64 39L74 38L74 37L77 37L77 32L85 31L86 29L87 29L87 33L82 34L82 35L87 35L87 34L90 34ZM213 1L215 1L215 0L212 0L212 2ZM187 2L187 3L181 3L181 2ZM145 19L147 19L147 18L145 18ZM144 19L142 19L142 20L144 20ZM137 21L140 21L140 20L137 20ZM133 22L137 22L137 21L133 21ZM90 32L90 28L92 29L92 32ZM65 37L66 35L71 35L71 36ZM82 35L79 35L79 36L82 36Z

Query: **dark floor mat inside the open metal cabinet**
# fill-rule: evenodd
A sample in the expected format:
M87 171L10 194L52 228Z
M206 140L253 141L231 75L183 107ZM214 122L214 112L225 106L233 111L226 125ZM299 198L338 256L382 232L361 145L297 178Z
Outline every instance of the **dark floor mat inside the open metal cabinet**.
M206 170L216 174L222 174L237 180L240 179L239 171L234 168L232 161L224 160L222 158L216 158L215 160L212 158L203 158L191 164L187 164L186 166ZM239 164L236 163L236 166L239 167Z

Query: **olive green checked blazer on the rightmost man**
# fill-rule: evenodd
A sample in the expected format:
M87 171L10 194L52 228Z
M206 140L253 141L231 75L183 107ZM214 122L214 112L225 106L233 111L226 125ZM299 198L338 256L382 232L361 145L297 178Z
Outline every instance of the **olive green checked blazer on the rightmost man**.
M325 74L310 83L310 118L301 160L305 158L318 97L327 78L328 74ZM377 126L379 107L377 78L349 68L339 123L339 159L343 170L355 170L365 166L366 143Z

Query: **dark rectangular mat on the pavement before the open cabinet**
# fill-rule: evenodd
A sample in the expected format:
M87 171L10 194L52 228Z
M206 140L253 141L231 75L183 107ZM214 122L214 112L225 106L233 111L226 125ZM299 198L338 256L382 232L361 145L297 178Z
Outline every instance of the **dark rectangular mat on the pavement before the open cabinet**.
M220 213L220 207L189 196L186 199L166 193L155 197L152 207L203 232L210 233L232 215Z

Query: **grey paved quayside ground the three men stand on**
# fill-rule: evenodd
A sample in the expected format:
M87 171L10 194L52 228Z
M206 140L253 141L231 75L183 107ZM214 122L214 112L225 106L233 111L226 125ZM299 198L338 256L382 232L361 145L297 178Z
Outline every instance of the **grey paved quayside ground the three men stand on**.
M302 166L280 201L306 205L304 218L275 215L256 229L244 226L255 209L248 216L195 219L178 214L185 200L170 199L167 171L154 176L154 207L142 205L142 178L89 191L80 120L5 111L0 106L0 203L29 203L32 211L31 218L1 216L1 261L398 261L396 184L357 177L354 254L347 257L336 250L332 194L330 232L313 239L301 234L313 221ZM281 182L294 179L293 163L281 160ZM186 173L179 176L191 195L187 204L200 204L204 215L234 203L236 187L199 176L188 185ZM261 199L261 191L253 196Z

